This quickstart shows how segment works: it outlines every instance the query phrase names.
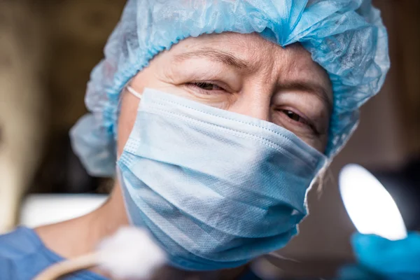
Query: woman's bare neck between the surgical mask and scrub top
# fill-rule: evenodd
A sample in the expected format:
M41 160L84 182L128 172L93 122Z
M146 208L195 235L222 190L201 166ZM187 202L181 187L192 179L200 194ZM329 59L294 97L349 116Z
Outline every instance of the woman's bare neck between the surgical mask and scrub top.
M36 228L35 231L51 251L69 259L92 253L102 239L113 235L120 227L126 225L129 225L129 220L125 212L123 194L120 186L116 185L109 200L92 213L70 221L45 225ZM102 274L97 269L92 270ZM179 274L183 277L179 279L192 276L194 279L232 280L237 279L244 267L214 273L181 272L174 268L160 270L165 271L170 272L164 273L167 278L160 275L158 279L176 279L176 274Z

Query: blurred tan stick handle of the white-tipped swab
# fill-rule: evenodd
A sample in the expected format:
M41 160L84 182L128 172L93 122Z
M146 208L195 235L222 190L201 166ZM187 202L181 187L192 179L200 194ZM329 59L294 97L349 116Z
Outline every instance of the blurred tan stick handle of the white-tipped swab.
M98 263L97 253L82 255L73 260L64 260L46 268L34 280L54 280L71 272L77 272L82 269L89 269Z

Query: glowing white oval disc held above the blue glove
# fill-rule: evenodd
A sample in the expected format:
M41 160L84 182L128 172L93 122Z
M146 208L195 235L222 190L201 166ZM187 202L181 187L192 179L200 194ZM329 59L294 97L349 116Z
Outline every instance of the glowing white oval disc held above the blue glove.
M344 207L358 232L390 240L405 239L407 230L397 204L382 184L360 165L339 173Z

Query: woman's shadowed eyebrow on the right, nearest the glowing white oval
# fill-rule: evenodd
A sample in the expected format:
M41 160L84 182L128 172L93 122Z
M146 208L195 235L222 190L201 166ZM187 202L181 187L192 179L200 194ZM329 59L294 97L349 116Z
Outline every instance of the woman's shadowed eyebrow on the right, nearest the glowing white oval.
M332 113L332 100L329 97L330 94L328 94L328 90L326 90L322 85L307 80L295 80L288 83L282 83L280 87L282 90L299 90L314 94L321 100L325 108L328 109L328 113Z

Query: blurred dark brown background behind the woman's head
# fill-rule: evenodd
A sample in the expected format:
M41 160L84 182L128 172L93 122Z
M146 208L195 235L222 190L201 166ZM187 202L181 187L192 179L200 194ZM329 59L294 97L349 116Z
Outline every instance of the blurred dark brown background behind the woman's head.
M0 1L0 232L20 223L27 195L106 194L72 153L69 129L85 113L93 66L103 57L124 0ZM420 1L377 0L388 28L391 71L361 112L360 127L335 159L311 215L282 252L293 258L351 258L353 225L337 172L355 162L374 172L420 230Z

